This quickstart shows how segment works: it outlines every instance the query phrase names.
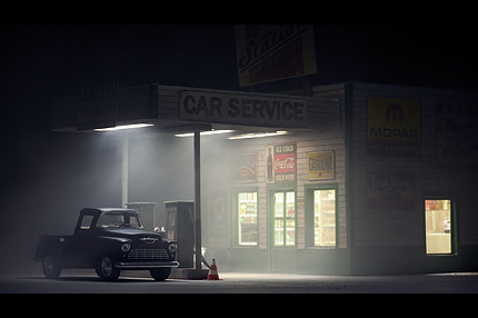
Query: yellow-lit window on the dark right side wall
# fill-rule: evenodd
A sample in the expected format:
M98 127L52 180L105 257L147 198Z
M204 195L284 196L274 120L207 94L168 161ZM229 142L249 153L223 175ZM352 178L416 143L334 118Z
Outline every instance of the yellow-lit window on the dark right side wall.
M451 254L451 200L425 200L427 254Z

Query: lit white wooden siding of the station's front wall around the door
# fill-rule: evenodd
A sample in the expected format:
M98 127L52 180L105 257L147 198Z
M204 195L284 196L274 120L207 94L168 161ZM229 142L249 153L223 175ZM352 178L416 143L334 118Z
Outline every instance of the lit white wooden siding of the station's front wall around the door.
M159 103L159 118L178 118L178 98L180 87L158 87L158 103ZM201 89L202 90L202 89ZM209 90L205 90L209 91ZM212 90L210 90L212 91ZM221 91L218 91L221 92ZM239 92L242 93L242 92ZM247 93L245 93L247 95ZM319 98L308 98L308 122L309 129L288 129L291 131L290 135L270 138L258 138L258 139L245 139L245 140L230 140L228 142L218 142L217 147L223 147L221 153L227 156L213 153L215 158L208 157L207 146L201 146L201 151L205 150L205 159L202 160L202 167L208 170L208 165L211 169L223 169L227 162L233 156L240 156L245 153L257 155L257 181L256 182L233 182L229 177L225 178L218 183L215 180L213 185L208 182L208 173L203 176L205 186L202 193L205 197L205 212L213 209L212 205L216 198L223 196L223 190L228 189L227 201L232 202L231 193L235 193L237 189L257 189L258 190L258 246L246 247L246 249L259 249L265 250L270 247L270 218L268 217L268 202L267 196L268 190L288 188L289 185L273 185L269 186L266 183L266 147L271 145L280 145L288 142L296 142L297 146L297 176L296 183L291 185L292 188L297 189L296 192L296 247L298 249L306 249L306 186L307 185L337 185L337 248L346 249L348 247L347 237L347 216L346 216L346 150L345 150L345 103L343 103L343 86L331 88L330 91L318 89L316 96ZM310 129L313 127L312 129ZM305 127L306 128L306 127ZM203 139L206 142L206 138ZM205 143L206 145L206 143ZM335 151L335 168L336 173L333 179L329 180L308 180L307 177L307 153L316 151ZM207 159L206 159L207 158ZM215 161L218 160L218 161ZM226 170L223 170L226 171ZM228 172L230 173L230 171ZM212 177L211 177L212 178ZM220 190L219 190L220 189ZM221 225L215 225L213 217L209 217L208 230L209 233L209 246L208 248L220 249L220 248L235 248L237 247L237 238L232 237L237 227L237 220L233 219L236 211L232 210L231 205L227 205L227 215L229 216L228 227L229 231L225 231L222 235L219 231L223 230ZM206 217L205 217L206 218ZM218 232L216 232L216 230ZM225 241L229 244L225 244ZM245 247L241 247L245 249Z

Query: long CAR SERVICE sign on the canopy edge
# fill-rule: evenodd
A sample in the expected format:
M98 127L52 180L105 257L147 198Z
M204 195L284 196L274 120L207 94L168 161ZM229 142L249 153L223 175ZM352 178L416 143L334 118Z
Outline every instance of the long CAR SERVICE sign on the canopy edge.
M179 119L300 128L307 125L307 102L301 98L182 90Z

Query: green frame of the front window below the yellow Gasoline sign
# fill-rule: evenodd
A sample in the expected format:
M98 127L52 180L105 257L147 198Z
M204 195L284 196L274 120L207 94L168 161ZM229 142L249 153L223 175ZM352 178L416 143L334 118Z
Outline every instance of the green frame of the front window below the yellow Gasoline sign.
M313 202L313 192L316 190L335 190L335 232L336 232L336 241L332 246L316 246L315 242L315 202ZM338 183L313 183L306 185L305 187L306 193L306 248L308 249L318 249L318 250L337 250L339 248L339 186Z

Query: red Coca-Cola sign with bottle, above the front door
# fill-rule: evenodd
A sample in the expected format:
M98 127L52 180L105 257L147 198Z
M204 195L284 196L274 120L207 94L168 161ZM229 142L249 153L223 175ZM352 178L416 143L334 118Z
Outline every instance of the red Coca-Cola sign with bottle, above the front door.
M266 182L296 182L296 142L266 147Z

